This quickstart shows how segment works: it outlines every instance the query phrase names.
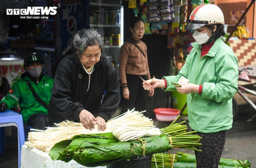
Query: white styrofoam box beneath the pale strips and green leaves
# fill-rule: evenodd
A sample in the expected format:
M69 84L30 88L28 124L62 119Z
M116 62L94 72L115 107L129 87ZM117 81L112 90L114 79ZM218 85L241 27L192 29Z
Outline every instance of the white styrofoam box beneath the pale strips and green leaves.
M68 163L64 161L52 161L48 153L36 148L29 148L26 145L21 149L21 168L89 168L78 164L72 160ZM98 166L95 168L107 168L107 166Z

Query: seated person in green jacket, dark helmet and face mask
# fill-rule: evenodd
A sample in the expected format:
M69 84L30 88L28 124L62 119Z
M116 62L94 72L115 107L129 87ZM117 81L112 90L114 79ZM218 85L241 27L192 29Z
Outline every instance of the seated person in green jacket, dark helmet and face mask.
M45 130L49 126L47 106L53 87L53 78L42 72L44 63L43 56L38 53L26 56L23 64L25 72L21 79L13 84L8 95L0 101L0 112L15 108L19 103L23 121L39 130ZM29 85L42 102L34 97Z

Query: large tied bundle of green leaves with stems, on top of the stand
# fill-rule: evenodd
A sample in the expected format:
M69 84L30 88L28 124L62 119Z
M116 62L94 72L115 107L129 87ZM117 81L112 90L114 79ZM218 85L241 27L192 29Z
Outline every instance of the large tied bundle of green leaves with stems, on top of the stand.
M178 118L178 117L177 117ZM177 119L176 119L177 120ZM186 125L171 123L169 127L160 129L161 135L138 138L127 142L119 142L112 133L75 135L70 140L56 143L50 150L52 160L71 161L87 166L105 166L121 159L163 153L173 147L197 150L200 146L199 135L187 135Z

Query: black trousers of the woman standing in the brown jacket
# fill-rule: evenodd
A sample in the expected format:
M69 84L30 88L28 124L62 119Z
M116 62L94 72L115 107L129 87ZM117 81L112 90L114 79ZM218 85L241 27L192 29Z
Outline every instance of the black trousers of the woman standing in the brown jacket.
M141 75L141 78L147 80L146 75ZM121 96L122 111L121 114L135 108L136 111L144 111L147 108L148 91L142 86L143 80L139 75L126 74L127 86L130 92L129 100ZM123 90L122 90L123 93Z

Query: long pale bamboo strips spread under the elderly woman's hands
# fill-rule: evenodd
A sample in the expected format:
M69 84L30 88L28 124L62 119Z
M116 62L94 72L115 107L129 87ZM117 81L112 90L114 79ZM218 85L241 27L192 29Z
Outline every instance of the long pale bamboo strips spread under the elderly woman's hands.
M145 112L145 111L143 111ZM32 132L28 134L28 141L25 145L28 147L34 147L39 150L49 153L50 149L57 143L66 139L72 138L74 135L78 134L98 134L112 132L111 126L114 123L120 123L127 125L129 127L137 127L140 129L151 129L155 126L153 125L153 120L145 117L142 113L135 111L134 109L128 110L124 114L110 119L106 125L106 130L98 131L97 125L92 131L86 130L81 123L75 123L72 121L63 121L61 123L55 123L56 127L46 127L45 131L31 129Z

